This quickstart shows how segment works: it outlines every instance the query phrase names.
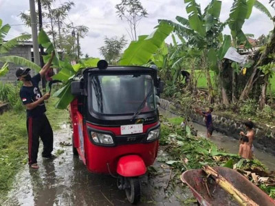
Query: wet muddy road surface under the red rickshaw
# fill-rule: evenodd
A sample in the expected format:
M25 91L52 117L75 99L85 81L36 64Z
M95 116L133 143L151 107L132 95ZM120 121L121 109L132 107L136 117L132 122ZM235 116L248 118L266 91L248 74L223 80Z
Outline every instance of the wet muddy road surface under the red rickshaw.
M25 165L14 180L14 189L0 205L130 205L124 191L118 190L116 179L89 173L80 159L73 157L72 146L61 146L60 142L72 141L71 135L65 126L55 133L54 153L60 155L47 160L39 153L39 170ZM142 177L142 198L138 205L182 205L184 199L192 197L188 189L181 189L181 183L174 192L170 187L164 192L170 169L162 168L157 161L153 167L157 175Z

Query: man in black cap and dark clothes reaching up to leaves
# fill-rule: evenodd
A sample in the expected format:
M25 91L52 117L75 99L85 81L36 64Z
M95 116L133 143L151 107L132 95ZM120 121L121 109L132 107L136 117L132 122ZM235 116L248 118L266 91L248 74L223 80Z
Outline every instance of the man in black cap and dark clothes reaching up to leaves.
M27 108L27 130L28 130L28 154L31 168L38 169L37 153L39 152L39 137L43 141L42 157L53 158L53 132L49 120L45 115L44 100L50 98L50 93L41 94L39 82L52 65L54 52L47 64L35 76L30 76L30 69L17 69L17 80L23 82L20 89L20 98Z

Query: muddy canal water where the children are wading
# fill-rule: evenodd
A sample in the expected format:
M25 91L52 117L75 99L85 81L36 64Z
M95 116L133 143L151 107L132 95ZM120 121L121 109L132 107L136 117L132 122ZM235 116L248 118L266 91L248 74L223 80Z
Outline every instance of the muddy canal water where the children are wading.
M162 108L160 108L159 111L162 115L168 118L179 117L178 115L170 113L169 111L165 111ZM192 123L192 126L195 128L195 130L197 130L197 134L200 137L206 137L206 126L202 126L195 122ZM236 154L239 152L239 141L234 139L234 137L228 137L226 135L223 135L222 133L217 133L216 131L214 131L212 137L210 138L210 141L214 142L214 144L217 144L219 148L224 148L230 153ZM267 166L267 168L275 171L274 155L267 152L263 152L257 148L255 148L254 150L254 155L257 159L264 163Z

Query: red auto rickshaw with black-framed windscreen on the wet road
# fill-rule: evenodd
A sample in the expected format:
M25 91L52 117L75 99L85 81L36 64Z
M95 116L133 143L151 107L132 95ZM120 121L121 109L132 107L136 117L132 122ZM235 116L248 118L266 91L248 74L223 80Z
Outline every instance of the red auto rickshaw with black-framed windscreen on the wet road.
M162 90L156 68L110 67L104 60L71 84L74 155L90 172L118 177L130 203L140 201L139 176L157 157Z

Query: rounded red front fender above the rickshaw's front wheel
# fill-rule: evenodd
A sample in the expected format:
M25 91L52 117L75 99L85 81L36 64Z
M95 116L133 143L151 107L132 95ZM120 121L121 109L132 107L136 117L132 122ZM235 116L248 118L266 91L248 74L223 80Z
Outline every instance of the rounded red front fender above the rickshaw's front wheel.
M116 172L121 176L140 176L145 174L146 166L138 155L127 155L118 161Z

